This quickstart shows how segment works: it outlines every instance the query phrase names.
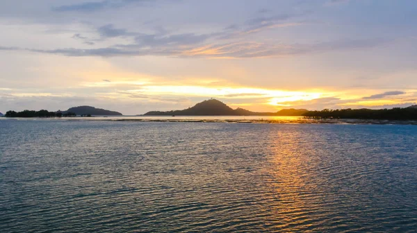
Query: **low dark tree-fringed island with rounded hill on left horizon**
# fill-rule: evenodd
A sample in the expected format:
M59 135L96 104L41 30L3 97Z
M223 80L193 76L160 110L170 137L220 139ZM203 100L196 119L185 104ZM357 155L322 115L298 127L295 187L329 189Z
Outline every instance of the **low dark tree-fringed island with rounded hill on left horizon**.
M67 111L49 112L48 110L24 110L22 112L8 111L6 117L69 117L69 116L122 116L120 112L104 110L91 106L70 107Z

